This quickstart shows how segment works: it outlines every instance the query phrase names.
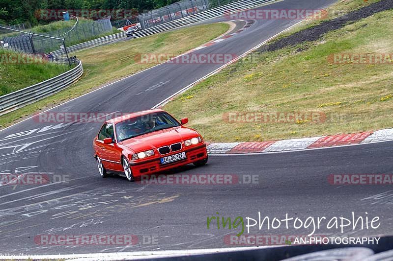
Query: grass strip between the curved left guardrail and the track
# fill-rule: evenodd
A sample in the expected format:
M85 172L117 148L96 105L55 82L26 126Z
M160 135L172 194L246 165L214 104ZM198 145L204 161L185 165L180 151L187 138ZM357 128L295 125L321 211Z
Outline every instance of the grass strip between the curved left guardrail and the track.
M82 60L84 75L77 83L55 95L1 116L0 126L4 128L34 112L48 109L155 65L136 63L134 57L140 53L181 54L216 38L228 28L229 25L223 23L197 25L80 51L77 56Z

